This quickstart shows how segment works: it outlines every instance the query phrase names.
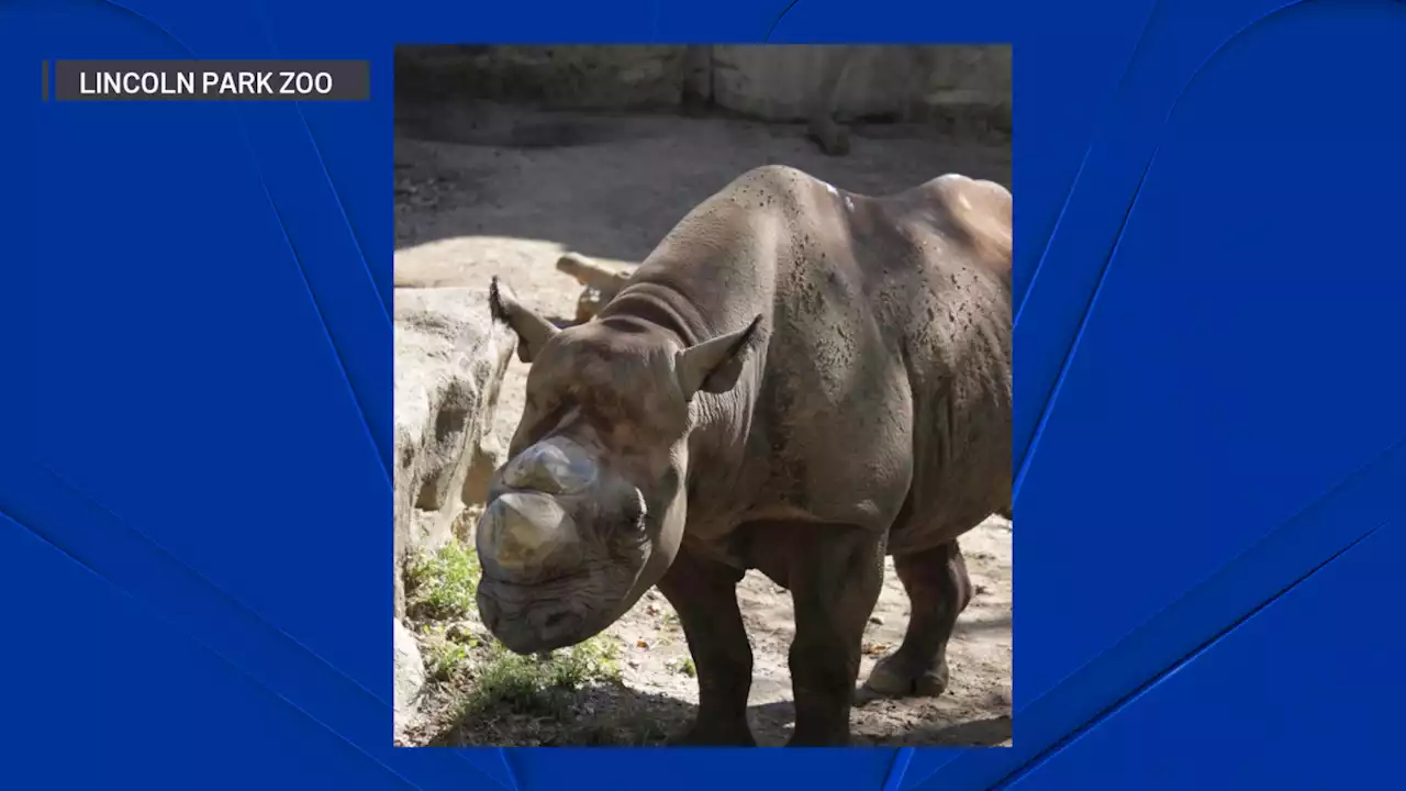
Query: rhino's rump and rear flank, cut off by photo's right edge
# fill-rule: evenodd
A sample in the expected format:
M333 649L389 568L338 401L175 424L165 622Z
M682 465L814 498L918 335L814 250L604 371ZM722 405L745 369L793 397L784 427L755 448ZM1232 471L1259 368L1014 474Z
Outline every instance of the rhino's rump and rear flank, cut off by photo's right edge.
M943 176L886 198L922 241L907 321L912 484L890 552L956 538L1011 502L1011 196Z

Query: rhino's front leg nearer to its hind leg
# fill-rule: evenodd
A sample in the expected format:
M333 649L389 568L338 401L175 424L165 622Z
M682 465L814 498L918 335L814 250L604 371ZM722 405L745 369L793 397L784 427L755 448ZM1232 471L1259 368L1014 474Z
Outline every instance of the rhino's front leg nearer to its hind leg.
M787 746L839 747L849 743L865 624L883 587L884 540L859 528L823 525L793 535L806 538L797 542L790 569L796 732Z

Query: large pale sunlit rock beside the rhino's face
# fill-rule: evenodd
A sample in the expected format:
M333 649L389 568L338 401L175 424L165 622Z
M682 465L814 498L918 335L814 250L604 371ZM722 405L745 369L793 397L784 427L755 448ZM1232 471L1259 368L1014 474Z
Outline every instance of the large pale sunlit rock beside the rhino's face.
M485 443L516 338L494 324L481 289L395 290L395 614L415 549L451 536L496 466Z

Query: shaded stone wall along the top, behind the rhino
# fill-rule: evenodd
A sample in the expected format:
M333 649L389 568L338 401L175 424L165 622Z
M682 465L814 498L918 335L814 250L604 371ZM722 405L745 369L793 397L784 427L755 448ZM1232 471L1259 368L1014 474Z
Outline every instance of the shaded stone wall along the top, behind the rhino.
M396 124L429 124L427 139L456 139L498 127L484 108L463 118L468 101L543 110L709 107L762 121L804 121L827 65L846 46L402 46L395 51ZM1007 45L935 46L914 59L910 46L853 46L835 111L844 118L903 115L917 101L939 117L953 106L1000 106L1010 120L1011 49ZM420 107L423 118L406 114ZM432 110L430 110L432 108ZM969 113L970 110L963 110ZM912 118L921 120L921 118ZM499 131L498 145L578 145L591 129L531 125L530 135ZM446 137L447 135L447 137ZM583 139L576 139L582 138ZM467 142L467 141L461 141Z

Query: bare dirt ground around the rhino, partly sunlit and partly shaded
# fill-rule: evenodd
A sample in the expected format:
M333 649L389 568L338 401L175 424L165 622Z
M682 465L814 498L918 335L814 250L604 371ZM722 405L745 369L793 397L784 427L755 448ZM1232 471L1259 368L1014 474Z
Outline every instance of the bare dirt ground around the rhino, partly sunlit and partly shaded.
M486 287L496 274L523 303L562 319L574 315L581 293L555 270L562 252L637 263L693 205L754 166L792 165L863 194L898 191L948 172L1011 184L1010 142L991 137L957 141L931 129L865 127L855 129L849 156L828 158L794 125L501 108L446 115L453 113L398 117L396 287ZM503 383L492 438L503 448L522 414L526 370L515 359ZM976 595L949 649L949 691L935 700L862 702L852 715L856 743L1010 745L1011 525L993 517L962 546ZM747 576L738 597L755 656L752 726L761 745L782 745L793 719L786 666L792 602L756 573ZM860 678L901 642L907 615L908 600L890 560L865 635ZM650 723L636 743L657 743L697 701L678 619L664 597L650 591L607 636L619 643L624 688L582 692L589 700L579 716L627 711ZM453 694L430 690L422 722L412 729L415 743L472 743L472 728L453 738L437 732ZM541 736L551 723L533 728L531 743L562 743ZM491 732L503 735L502 728Z

